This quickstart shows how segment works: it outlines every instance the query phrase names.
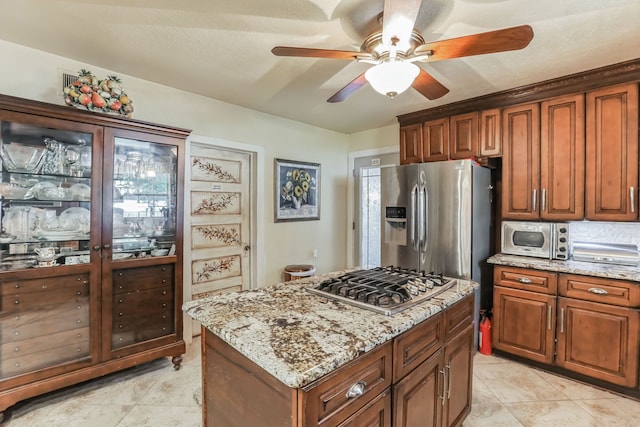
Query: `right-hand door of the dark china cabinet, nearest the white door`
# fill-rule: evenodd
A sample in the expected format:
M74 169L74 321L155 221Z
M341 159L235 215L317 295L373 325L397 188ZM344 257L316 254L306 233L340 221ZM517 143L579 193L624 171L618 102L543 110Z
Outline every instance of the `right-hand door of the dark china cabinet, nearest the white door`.
M181 144L173 137L105 130L105 358L172 344L182 336ZM203 209L210 209L205 196Z

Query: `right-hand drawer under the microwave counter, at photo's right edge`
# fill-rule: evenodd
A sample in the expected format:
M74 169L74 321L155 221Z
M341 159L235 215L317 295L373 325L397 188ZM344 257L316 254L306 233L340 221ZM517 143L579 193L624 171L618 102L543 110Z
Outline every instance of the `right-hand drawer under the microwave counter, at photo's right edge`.
M558 293L564 297L621 307L640 307L640 283L561 274Z

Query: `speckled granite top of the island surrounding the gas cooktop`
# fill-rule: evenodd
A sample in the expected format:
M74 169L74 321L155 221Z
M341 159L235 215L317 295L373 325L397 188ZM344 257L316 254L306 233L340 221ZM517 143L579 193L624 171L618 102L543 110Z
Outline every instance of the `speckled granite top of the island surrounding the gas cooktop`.
M186 302L183 310L265 371L292 388L334 371L474 292L451 289L393 316L305 290L344 272Z

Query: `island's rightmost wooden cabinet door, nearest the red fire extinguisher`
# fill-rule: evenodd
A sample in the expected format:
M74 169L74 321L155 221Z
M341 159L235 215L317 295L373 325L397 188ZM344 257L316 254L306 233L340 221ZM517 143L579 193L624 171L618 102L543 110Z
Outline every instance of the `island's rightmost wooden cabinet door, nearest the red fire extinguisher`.
M442 425L459 426L471 412L471 379L473 378L473 325L444 348L446 404Z

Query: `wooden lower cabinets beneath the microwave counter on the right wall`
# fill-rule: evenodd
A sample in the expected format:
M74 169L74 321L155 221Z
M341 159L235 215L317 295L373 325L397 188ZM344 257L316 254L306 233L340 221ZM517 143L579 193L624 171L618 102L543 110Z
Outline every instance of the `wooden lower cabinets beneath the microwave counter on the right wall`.
M575 274L552 275L557 292L511 288L538 270L496 267L493 346L496 350L591 378L622 392L639 386L640 284ZM544 289L544 288L540 288ZM547 288L548 289L548 288ZM613 388L613 386L610 386Z

